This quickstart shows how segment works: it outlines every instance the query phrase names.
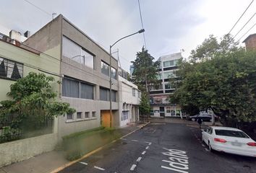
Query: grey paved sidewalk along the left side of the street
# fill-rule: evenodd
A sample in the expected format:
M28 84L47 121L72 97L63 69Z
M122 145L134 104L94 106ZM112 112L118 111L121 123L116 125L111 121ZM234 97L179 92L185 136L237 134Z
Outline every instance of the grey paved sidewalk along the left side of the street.
M119 130L121 136L125 136L142 128L144 125L142 123L130 123L127 127L117 130ZM0 173L48 173L68 163L69 161L65 159L64 151L50 151L25 161L2 167L0 168Z

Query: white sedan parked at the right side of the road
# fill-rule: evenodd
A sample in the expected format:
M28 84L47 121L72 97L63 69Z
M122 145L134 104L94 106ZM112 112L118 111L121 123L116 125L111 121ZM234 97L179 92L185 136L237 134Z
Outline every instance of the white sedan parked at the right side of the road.
M237 128L211 126L202 131L202 141L210 151L256 157L256 142Z

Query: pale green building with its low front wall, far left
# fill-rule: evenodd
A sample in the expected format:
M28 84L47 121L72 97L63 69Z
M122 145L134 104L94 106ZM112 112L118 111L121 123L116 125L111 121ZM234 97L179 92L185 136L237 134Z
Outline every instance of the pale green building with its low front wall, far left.
M59 93L57 81L60 78L57 75L59 74L60 62L43 53L20 45L20 40L16 40L20 37L19 35L12 38L9 37L12 35L0 34L0 101L12 99L7 97L10 86L17 79L27 76L30 72L53 76L55 81L52 83L52 88ZM6 119L0 123L0 138L3 137L4 127L12 124L12 120L14 120L12 118L7 118L8 120ZM2 117L1 120L3 120ZM57 124L57 119L54 120L54 124ZM45 135L0 143L0 167L54 150L58 142L57 130L57 126L54 125L52 131ZM12 134L13 137L20 135L22 134Z

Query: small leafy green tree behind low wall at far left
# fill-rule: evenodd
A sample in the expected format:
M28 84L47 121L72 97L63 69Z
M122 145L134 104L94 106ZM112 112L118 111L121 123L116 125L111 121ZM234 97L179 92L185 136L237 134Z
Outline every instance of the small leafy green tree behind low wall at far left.
M73 113L75 110L68 103L58 102L56 92L51 88L54 78L45 74L30 72L24 78L18 79L10 86L7 96L11 100L1 101L1 121L15 115L8 127L9 130L33 127L38 128L45 120L53 120L54 116ZM27 120L35 120L33 124ZM8 141L8 140L7 140Z

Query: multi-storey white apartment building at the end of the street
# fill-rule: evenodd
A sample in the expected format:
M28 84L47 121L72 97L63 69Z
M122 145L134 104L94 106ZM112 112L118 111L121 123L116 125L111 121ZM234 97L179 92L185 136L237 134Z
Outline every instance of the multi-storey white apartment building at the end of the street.
M173 105L169 102L171 93L175 91L174 87L170 84L170 79L176 78L176 71L178 70L177 63L181 58L182 53L174 53L158 58L158 61L160 61L158 79L161 84L158 88L152 87L150 89L151 117L184 116L179 105Z

